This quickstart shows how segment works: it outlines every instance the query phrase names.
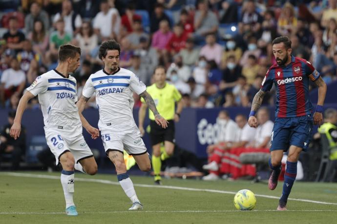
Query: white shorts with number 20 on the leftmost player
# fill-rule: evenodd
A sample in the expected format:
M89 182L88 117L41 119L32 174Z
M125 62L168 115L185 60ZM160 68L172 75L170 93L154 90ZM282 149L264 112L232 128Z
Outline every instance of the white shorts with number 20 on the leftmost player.
M45 138L51 152L55 155L56 165L59 164L61 155L67 151L73 154L75 163L93 156L82 134L71 135L69 131L48 130L45 131Z

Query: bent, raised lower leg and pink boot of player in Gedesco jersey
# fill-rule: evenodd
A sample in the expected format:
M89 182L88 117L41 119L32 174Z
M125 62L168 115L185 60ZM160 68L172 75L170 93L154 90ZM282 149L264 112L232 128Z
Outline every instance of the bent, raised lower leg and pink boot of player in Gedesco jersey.
M283 157L283 149L274 150L270 152L269 167L273 170L269 177L268 187L274 190L277 186L278 176L281 172L281 161Z

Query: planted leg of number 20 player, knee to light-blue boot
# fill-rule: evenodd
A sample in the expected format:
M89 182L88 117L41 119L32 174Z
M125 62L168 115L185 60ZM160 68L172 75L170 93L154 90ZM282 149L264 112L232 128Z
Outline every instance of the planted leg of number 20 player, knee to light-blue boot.
M65 213L67 215L78 215L73 201L74 194L74 165L75 160L71 152L67 151L60 156L60 163L62 165L61 184L63 187L65 199Z

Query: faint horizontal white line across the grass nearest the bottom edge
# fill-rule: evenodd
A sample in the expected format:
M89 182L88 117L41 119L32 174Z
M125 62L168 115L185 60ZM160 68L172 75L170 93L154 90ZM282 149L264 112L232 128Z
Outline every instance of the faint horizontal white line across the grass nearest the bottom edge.
M287 210L286 212L336 212L337 210ZM181 211L83 211L83 214L109 214L109 213L217 213L217 212L280 212L277 210L181 210ZM0 215L58 215L65 214L64 212L0 212Z

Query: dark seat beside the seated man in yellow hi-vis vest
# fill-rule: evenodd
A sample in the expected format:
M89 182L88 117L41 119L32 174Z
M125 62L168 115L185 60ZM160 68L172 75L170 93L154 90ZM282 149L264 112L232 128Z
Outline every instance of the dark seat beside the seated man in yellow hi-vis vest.
M316 182L325 181L328 175L332 175L331 173L329 174L329 155L332 148L330 147L329 140L325 134L320 134L320 143L322 148L322 157L315 180Z

